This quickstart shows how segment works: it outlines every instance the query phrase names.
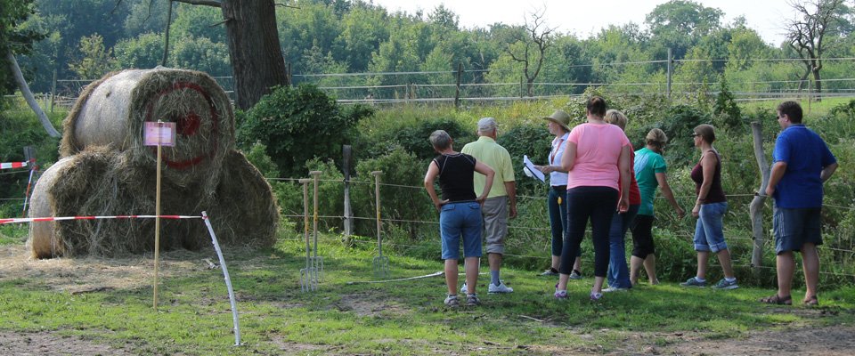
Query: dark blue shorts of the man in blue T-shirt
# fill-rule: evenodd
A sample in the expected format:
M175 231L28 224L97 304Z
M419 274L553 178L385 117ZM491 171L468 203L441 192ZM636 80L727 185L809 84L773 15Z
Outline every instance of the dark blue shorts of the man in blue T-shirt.
M788 209L776 206L772 217L775 252L780 255L787 251L801 251L807 242L822 245L821 225L821 207Z

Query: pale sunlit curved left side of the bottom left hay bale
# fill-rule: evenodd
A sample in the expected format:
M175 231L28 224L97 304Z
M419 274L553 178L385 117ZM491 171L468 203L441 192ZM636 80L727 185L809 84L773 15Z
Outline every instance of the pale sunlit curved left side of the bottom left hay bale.
M59 178L58 172L71 163L71 158L62 158L48 168L38 179L29 200L29 217L53 216L53 202L49 193L50 187ZM66 247L55 239L54 222L38 222L29 224L29 239L27 246L34 258L50 258L65 253Z

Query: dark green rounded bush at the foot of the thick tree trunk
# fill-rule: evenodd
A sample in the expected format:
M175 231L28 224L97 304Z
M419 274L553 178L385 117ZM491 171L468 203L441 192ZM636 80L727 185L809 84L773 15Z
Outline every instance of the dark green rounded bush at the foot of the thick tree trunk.
M281 174L293 177L311 158L340 157L341 145L358 134L357 122L371 115L369 107L339 107L314 85L281 86L237 114L236 141L247 151L256 142L264 144Z

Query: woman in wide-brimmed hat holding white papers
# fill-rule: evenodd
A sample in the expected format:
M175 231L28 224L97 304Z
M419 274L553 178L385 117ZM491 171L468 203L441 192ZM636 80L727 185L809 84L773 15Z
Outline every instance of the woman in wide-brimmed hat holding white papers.
M541 273L542 276L558 276L558 266L561 264L561 249L564 243L564 234L567 229L567 173L561 168L561 156L564 154L567 135L570 134L570 115L564 110L555 110L552 115L543 117L547 120L547 128L550 134L555 135L552 140L549 164L546 166L534 166L543 174L550 174L550 192L547 196L547 207L550 213L550 228L552 230L552 262L550 268ZM581 279L580 272L582 251L576 256L573 265L572 279Z

